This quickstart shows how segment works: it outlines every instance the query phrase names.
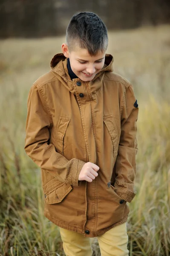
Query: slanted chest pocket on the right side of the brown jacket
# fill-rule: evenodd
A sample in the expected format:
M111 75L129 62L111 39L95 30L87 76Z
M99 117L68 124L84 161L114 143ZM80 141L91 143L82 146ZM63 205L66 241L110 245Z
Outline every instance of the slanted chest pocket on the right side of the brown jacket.
M118 136L118 128L117 128L115 119L112 115L109 115L109 116L104 116L103 121L112 139L113 157L116 157L118 154L119 136Z

